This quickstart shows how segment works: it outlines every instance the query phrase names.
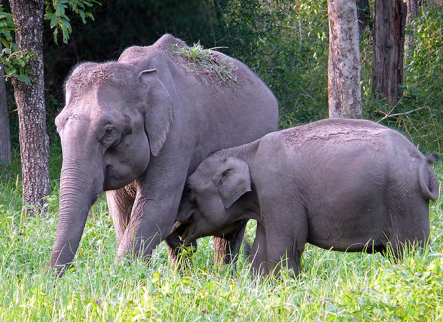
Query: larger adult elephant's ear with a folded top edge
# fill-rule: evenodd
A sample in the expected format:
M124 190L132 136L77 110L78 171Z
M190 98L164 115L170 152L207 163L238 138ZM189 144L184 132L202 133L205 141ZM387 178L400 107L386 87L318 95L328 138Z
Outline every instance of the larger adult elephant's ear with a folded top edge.
M148 107L145 114L145 132L148 135L151 153L158 155L172 125L174 106L169 92L160 81L156 69L143 70L138 79L148 86Z

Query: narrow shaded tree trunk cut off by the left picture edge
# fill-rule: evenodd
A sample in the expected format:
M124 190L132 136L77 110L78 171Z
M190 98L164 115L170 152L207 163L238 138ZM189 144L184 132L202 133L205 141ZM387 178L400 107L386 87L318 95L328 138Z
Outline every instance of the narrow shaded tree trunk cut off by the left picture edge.
M4 67L0 64L0 176L6 179L6 177L8 177L7 166L11 163L11 140L9 136L8 104L3 75Z

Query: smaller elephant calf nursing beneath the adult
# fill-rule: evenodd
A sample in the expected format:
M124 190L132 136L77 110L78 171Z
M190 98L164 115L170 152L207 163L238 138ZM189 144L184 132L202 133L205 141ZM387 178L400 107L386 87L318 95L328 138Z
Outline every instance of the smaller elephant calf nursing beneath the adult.
M402 134L365 120L327 119L215 153L189 177L182 238L220 235L257 221L256 273L300 272L306 242L337 251L401 256L429 236L439 183ZM186 234L187 232L187 234ZM398 243L398 242L399 243Z

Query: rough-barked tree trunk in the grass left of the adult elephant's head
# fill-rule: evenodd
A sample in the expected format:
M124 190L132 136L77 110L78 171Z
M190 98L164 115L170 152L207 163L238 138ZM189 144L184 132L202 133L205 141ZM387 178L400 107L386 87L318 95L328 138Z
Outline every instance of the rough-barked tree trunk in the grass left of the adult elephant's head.
M32 50L29 77L31 85L14 78L15 101L19 116L20 155L23 176L23 204L42 210L49 185L49 138L46 132L43 63L44 0L11 0L16 43L21 50ZM32 213L34 210L32 210Z

